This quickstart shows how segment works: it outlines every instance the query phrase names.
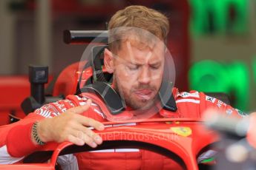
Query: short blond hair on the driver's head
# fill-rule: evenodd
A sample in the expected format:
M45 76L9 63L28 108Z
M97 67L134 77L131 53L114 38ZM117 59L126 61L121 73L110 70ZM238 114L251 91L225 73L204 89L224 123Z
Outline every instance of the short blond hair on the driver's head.
M120 49L121 39L131 35L128 31L133 31L140 38L143 37L148 40L152 38L142 30L146 30L146 32L157 36L157 38L166 43L169 30L168 18L157 10L140 5L132 5L117 11L108 23L110 50L116 51Z

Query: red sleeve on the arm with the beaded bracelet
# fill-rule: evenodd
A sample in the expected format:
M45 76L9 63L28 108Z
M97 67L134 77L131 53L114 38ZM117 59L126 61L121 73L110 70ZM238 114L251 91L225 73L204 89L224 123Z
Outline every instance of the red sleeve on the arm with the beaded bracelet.
M1 157L7 160L8 156L10 156L10 160L13 157L23 157L38 150L40 146L35 145L31 139L33 123L44 118L53 118L73 106L74 104L69 100L49 103L16 123L1 126L0 160Z

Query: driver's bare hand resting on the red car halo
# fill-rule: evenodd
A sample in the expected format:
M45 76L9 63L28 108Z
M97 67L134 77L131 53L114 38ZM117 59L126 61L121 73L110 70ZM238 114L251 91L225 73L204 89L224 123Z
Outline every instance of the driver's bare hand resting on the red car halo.
M91 100L88 100L85 106L77 106L54 118L45 118L39 121L37 133L40 140L43 142L56 141L58 143L70 141L79 146L86 143L93 148L101 144L102 138L91 129L88 129L88 127L93 127L100 131L104 129L104 125L80 115L82 112L87 111L90 106ZM36 141L33 139L33 142Z

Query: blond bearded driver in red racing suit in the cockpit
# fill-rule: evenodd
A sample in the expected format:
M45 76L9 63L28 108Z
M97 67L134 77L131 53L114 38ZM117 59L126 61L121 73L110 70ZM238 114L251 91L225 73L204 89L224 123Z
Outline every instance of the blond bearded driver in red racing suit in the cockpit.
M109 34L110 50L104 52L105 68L114 74L114 89L124 98L127 109L136 110L134 114L145 114L154 109L163 82L166 50L163 41L168 34L168 19L147 7L130 6L118 11L109 22L109 30L123 26L128 30L114 30ZM137 32L134 27L146 33ZM113 41L116 37L119 41ZM146 42L141 41L143 38ZM174 112L160 110L154 118L201 118L210 107L227 115L243 116L242 112L201 92L178 92L173 88L172 94L177 109ZM102 138L87 127L104 129L100 122L111 120L107 112L105 103L88 92L68 95L65 100L42 106L17 123L1 126L0 164L17 163L50 141L70 141L80 146L86 143L94 148L102 143ZM125 112L121 115L133 116ZM65 155L59 158L59 163L64 169L77 169L77 165L79 169L181 168L163 155L140 149L109 149L80 153L76 157Z

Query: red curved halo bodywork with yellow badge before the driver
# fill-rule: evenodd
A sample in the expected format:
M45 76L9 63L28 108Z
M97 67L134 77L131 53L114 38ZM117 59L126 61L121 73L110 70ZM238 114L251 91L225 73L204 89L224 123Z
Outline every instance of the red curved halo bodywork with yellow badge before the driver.
M55 169L60 155L113 148L148 149L170 157L184 169L198 169L197 157L218 140L215 132L195 119L155 118L104 124L105 130L97 132L103 143L96 149L69 142L47 143L39 152L25 157L23 163L1 165L0 169Z

